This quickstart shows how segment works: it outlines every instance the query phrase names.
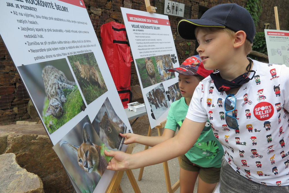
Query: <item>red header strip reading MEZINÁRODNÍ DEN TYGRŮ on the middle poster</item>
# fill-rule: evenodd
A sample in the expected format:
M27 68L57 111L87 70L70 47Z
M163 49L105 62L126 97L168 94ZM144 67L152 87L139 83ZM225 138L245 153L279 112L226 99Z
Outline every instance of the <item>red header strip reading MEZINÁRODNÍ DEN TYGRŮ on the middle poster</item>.
M155 17L147 17L142 15L134 15L127 13L127 21L137 22L137 23L149 23L156 25L170 25L170 21L168 19L160 19Z

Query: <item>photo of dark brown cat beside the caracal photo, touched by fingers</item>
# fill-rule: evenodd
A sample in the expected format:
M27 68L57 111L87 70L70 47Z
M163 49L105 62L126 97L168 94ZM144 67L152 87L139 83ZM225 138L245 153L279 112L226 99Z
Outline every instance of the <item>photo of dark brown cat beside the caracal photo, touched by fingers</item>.
M101 106L92 125L100 139L110 150L121 150L124 139L119 133L126 133L127 127L116 115L108 98Z

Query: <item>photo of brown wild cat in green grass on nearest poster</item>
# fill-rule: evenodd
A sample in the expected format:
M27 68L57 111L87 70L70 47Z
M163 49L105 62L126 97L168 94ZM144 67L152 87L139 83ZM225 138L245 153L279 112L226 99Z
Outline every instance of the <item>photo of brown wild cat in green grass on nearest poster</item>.
M67 58L87 104L108 91L93 52Z

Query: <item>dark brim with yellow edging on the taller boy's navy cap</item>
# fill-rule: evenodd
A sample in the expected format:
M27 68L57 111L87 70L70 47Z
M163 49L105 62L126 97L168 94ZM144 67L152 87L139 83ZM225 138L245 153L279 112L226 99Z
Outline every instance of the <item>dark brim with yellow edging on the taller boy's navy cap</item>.
M200 27L226 27L216 21L208 19L182 19L179 21L177 30L179 35L187 40L195 40L195 29L197 26Z

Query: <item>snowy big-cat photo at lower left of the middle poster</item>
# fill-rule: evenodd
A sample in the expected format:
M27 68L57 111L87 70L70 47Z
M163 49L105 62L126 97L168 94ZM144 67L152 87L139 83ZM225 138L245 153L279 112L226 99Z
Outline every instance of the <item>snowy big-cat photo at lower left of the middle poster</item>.
M170 107L164 85L162 83L159 84L157 87L149 91L146 96L155 119L157 120Z

